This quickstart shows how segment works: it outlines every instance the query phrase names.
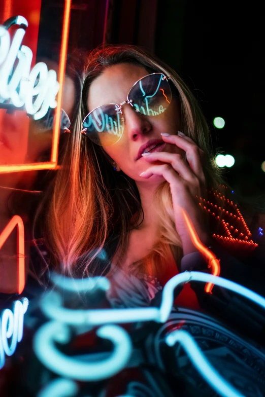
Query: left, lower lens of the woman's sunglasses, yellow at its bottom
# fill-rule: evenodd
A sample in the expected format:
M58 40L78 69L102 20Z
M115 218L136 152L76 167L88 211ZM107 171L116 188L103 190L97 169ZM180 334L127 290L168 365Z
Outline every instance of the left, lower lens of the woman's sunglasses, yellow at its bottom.
M83 121L86 135L100 146L111 146L116 143L124 129L122 114L115 104L97 107Z

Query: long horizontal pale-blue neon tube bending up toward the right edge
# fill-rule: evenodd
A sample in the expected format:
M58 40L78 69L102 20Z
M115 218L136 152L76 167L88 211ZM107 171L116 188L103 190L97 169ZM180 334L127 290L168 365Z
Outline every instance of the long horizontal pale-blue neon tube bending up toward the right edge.
M63 308L61 296L52 291L46 294L40 302L42 311L50 318L62 321L75 326L87 324L90 326L100 326L108 323L126 323L137 321L156 321L165 322L171 312L174 301L175 288L183 283L190 281L211 282L213 284L227 288L243 297L250 299L256 304L265 308L265 299L260 295L250 291L233 281L222 277L213 276L203 272L183 272L172 277L165 284L162 291L162 301L160 308L128 308L128 309L89 309L72 310Z

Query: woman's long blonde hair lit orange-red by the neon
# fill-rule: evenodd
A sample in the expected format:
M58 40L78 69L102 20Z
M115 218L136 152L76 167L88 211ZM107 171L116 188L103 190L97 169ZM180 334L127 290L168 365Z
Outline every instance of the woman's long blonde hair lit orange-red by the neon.
M81 98L71 135L47 195L44 238L51 254L51 265L72 276L107 272L113 255L118 263L126 254L131 219L143 221L143 210L136 183L122 171L115 172L101 147L80 134L88 113L87 97L91 82L118 63L133 63L149 73L161 71L169 76L178 92L182 131L206 154L207 185L217 188L222 182L210 145L210 132L200 105L178 74L155 55L132 45L109 45L94 49L87 57L81 77ZM138 263L141 271L159 275L161 261L170 249L181 258L180 238L175 228L170 186L162 183L155 194L160 216L160 240L148 257ZM140 266L141 265L141 266Z

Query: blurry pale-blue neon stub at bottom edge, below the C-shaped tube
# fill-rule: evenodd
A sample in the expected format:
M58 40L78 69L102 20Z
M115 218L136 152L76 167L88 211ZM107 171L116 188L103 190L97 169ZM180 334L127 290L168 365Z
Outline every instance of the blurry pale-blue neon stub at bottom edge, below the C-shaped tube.
M59 378L50 382L37 397L74 397L77 392L78 385L75 382Z

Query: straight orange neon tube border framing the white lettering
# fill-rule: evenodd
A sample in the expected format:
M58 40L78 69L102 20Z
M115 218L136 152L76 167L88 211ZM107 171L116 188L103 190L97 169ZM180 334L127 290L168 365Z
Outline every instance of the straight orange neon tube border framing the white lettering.
M34 171L40 169L56 169L57 167L58 142L59 142L59 134L60 134L60 117L61 117L60 109L62 102L62 89L64 82L65 64L67 60L71 1L72 0L64 0L61 51L60 51L60 62L59 62L59 72L58 72L59 91L57 95L57 107L55 110L55 123L54 123L53 135L52 135L51 161L40 162L40 163L29 163L29 164L0 165L0 174L10 173L10 172Z

